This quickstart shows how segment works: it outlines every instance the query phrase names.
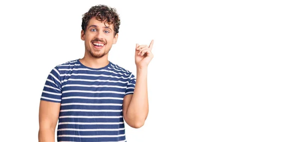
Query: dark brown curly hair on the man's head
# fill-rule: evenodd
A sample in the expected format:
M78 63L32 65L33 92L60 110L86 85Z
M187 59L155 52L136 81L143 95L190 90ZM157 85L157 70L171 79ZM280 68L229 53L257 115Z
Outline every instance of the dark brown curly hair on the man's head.
M105 21L105 26L106 23L113 24L114 35L116 35L119 32L121 20L115 8L109 7L107 5L102 5L102 4L95 5L92 6L88 10L88 12L86 12L82 16L83 17L82 17L81 27L84 33L86 32L88 22L92 17L95 17L97 20L101 22Z

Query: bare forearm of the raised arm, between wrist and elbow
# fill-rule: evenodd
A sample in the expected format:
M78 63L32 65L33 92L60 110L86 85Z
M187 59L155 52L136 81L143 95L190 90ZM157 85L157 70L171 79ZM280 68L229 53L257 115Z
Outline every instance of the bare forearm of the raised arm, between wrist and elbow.
M127 111L130 121L142 123L142 125L149 113L147 75L147 68L137 68L135 90Z

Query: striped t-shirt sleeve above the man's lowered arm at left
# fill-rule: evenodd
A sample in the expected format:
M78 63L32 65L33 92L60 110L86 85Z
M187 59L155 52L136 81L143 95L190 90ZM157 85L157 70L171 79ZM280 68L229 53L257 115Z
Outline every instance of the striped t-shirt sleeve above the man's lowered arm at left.
M52 69L52 71L49 73L43 87L40 100L58 103L61 102L61 80L57 67Z

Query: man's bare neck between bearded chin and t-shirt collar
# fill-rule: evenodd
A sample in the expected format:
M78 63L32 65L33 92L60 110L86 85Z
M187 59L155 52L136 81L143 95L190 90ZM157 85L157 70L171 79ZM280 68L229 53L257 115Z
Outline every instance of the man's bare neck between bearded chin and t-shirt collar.
M84 56L82 59L80 59L80 62L84 66L89 67L89 68L94 68L94 69L103 68L109 64L107 55L105 55L102 58L94 58L94 57Z

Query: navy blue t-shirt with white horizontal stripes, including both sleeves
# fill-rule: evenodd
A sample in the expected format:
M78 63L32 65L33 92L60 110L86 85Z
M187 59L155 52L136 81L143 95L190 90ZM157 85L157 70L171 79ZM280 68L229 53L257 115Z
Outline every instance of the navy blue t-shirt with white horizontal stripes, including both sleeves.
M40 99L61 103L58 142L126 142L123 99L135 83L132 72L111 62L100 69L79 59L56 66Z

